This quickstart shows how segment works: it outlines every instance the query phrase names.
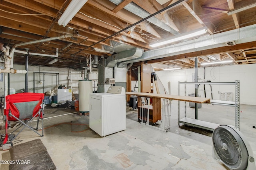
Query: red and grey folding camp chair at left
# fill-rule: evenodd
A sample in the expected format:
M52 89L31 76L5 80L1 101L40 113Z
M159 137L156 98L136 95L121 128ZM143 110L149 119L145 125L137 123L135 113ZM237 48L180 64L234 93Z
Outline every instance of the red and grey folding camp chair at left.
M44 126L43 126L43 115L44 115L44 94L43 93L17 93L10 94L6 96L6 109L4 110L4 115L6 115L6 123L5 123L5 139L4 144L7 142L12 142L25 127L28 127L30 130L37 133L40 137L44 136ZM37 119L36 128L30 127L29 123L35 118ZM42 120L42 135L38 133L36 130L38 129L39 120ZM19 129L22 129L13 137L9 139L8 137L8 123L9 121L15 121L19 123ZM15 129L12 133L14 133L17 129Z

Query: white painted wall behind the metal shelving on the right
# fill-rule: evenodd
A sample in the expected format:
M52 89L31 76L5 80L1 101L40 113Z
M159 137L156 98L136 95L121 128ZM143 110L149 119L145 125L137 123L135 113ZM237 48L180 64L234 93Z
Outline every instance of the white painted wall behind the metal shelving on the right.
M166 89L171 82L171 94L178 95L178 81L192 82L194 68L186 70L157 71L160 81ZM198 82L204 80L204 68L198 68ZM256 64L219 66L206 68L206 80L212 82L234 82L240 80L240 104L256 105ZM212 85L213 99L220 100L220 92L233 92L234 85ZM203 85L198 88L199 95L204 96ZM187 95L194 93L194 85L187 85ZM184 95L184 85L180 85L180 95ZM211 98L210 86L206 85L206 97Z

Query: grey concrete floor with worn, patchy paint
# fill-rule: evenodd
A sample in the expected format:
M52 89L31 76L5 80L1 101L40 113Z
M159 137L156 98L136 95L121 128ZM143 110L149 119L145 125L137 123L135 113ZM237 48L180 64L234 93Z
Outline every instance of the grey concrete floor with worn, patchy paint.
M137 110L127 107L126 130L106 137L89 128L88 115L80 116L70 108L46 107L44 137L26 130L13 143L40 138L58 170L227 170L212 158L211 131L182 124L179 127L178 101L172 101L171 106L171 128L167 133L139 123ZM187 107L187 111L188 117L194 117L194 109ZM182 118L184 106L181 113ZM198 119L234 125L234 113L234 107L203 104ZM255 113L256 106L240 106L240 131L247 137L254 157ZM53 117L58 115L63 116ZM0 153L1 160L10 159L8 151ZM1 165L0 170L4 169L8 166Z

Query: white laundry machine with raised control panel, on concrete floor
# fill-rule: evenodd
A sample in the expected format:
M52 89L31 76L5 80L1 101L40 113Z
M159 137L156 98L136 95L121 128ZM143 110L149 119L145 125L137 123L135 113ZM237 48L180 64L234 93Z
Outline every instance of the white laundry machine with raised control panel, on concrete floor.
M90 94L89 127L104 137L126 129L126 96L121 86Z

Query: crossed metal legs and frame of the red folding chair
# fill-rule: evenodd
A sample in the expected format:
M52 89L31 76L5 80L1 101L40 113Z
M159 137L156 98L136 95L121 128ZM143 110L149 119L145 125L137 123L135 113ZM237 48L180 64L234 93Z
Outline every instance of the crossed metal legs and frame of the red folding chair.
M28 93L25 93L25 94L28 94ZM25 95L24 94L24 95ZM29 93L29 94L34 94L34 93ZM6 136L5 136L5 139L4 139L4 144L5 143L9 143L9 142L12 142L22 131L23 129L25 129L25 127L28 127L30 130L34 131L35 133L37 133L40 137L43 137L44 136L44 124L43 124L43 115L44 115L44 104L43 104L43 98L44 98L44 94L40 94L42 96L42 102L40 104L41 108L39 109L39 111L33 115L32 118L30 119L24 119L24 121L27 121L26 123L24 123L22 120L20 120L18 117L16 117L15 115L13 115L10 111L10 108L9 108L9 103L10 101L7 99L7 96L6 96L6 109L4 110L5 112L5 115L6 115L6 124L5 124L5 129L6 129ZM33 100L32 100L33 101ZM29 101L30 102L30 101ZM8 118L9 117L13 117L14 119L16 120L9 120ZM37 125L36 125L36 128L34 127L31 127L29 125L29 123L35 118L35 117L38 117L37 118ZM38 130L38 124L39 124L39 120L42 120L42 135L40 133L38 133L36 130ZM8 137L8 132L7 132L7 129L8 129L8 122L9 121L14 121L16 123L19 123L21 126L19 126L18 128L16 128L14 131L12 131L12 133L14 133L16 130L20 129L20 127L23 127L18 133L17 135L15 135L15 137L11 140L9 140L9 137ZM23 125L23 126L22 126Z

